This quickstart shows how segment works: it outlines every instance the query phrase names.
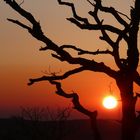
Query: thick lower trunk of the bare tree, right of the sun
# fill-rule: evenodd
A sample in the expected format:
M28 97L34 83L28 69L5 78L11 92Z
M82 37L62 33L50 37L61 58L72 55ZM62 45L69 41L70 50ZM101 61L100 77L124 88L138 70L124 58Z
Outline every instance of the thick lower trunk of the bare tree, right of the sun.
M122 136L121 140L135 140L136 135L136 114L135 104L136 97L133 94L133 82L132 79L127 77L117 81L117 85L121 93L122 101Z

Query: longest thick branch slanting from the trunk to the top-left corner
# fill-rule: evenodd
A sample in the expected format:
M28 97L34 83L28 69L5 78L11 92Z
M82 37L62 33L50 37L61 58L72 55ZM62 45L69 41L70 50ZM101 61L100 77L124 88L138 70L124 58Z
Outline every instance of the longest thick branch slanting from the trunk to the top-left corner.
M61 47L56 45L52 40L50 40L47 36L44 35L40 23L35 20L35 18L32 16L31 13L26 12L23 10L14 0L5 0L14 10L16 10L20 15L25 17L28 21L32 23L32 29L28 30L29 33L35 37L36 39L44 42L47 46L47 49L50 49L56 53L56 55L53 56L59 56L57 59L61 61L66 61L69 64L79 64L86 68L86 70L91 71L98 71L98 72L104 72L107 75L111 77L116 77L116 71L112 70L111 68L107 67L104 63L97 63L94 60L88 60L85 58L74 58L72 57L67 51L63 50ZM23 24L19 23L21 27L28 29Z

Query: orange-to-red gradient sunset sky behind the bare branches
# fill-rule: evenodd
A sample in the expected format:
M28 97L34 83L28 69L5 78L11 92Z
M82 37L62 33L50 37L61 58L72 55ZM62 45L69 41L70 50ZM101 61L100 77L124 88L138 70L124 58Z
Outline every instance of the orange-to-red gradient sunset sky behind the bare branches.
M17 1L20 3L22 0ZM89 17L86 11L92 7L85 1L76 3L76 7L79 14ZM112 4L119 11L129 13L133 0L106 0L105 4ZM97 50L102 46L109 48L98 39L99 32L82 31L68 22L66 18L71 16L71 10L59 6L56 0L25 0L22 6L35 15L44 33L59 45L72 44L89 50ZM104 16L105 22L116 24L111 17ZM34 39L26 30L9 23L6 18L20 19L29 24L0 1L0 117L13 115L20 106L55 108L71 105L70 100L55 95L54 86L48 82L27 86L29 78L42 76L42 71L49 67L56 72L60 69L65 72L72 67L52 59L49 52L39 52L40 46L44 44ZM122 55L124 53L122 49ZM102 57L97 57L97 60L102 61ZM107 65L116 69L111 57L104 56L104 60ZM110 83L113 94L120 99L115 81L102 73L83 72L74 75L63 81L63 87L68 92L79 93L81 103L89 109L99 109L99 117L104 115L106 118L117 118L120 116L119 108L108 111L102 107L102 99L109 94ZM140 88L136 87L136 91L140 91Z

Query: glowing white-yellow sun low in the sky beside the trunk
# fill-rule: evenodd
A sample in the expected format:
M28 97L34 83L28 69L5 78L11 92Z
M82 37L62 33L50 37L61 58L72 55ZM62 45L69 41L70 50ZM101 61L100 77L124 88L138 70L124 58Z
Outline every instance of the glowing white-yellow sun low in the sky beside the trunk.
M117 107L117 105L118 105L117 99L112 95L106 96L103 99L103 106L107 109L113 109Z

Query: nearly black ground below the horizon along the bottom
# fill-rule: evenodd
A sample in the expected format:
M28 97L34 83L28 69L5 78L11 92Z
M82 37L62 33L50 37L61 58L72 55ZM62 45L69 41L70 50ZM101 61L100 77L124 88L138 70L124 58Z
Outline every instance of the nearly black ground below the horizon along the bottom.
M120 140L120 124L99 120L103 140ZM140 139L140 134L137 140ZM60 122L0 119L0 140L93 140L89 120Z

